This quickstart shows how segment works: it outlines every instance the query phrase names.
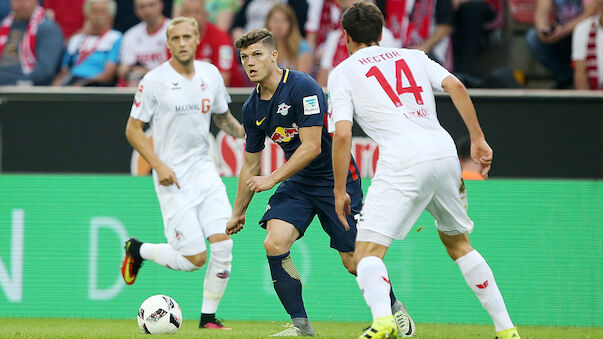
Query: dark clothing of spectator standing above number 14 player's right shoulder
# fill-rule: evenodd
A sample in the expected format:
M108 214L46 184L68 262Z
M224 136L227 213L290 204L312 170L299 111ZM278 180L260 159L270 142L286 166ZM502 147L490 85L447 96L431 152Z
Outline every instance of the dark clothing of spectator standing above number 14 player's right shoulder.
M489 0L453 0L452 7L454 71L475 76L477 56L486 47L485 24L496 17L496 10Z

